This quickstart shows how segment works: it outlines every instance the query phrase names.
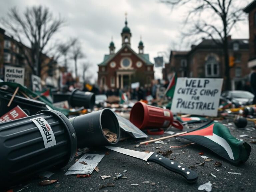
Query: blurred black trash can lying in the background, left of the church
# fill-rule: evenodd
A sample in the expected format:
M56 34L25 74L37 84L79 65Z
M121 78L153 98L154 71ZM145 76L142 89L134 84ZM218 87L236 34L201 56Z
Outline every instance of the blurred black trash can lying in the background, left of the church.
M72 107L84 107L85 109L93 109L95 105L95 94L92 92L84 92L74 89L69 97L69 104Z

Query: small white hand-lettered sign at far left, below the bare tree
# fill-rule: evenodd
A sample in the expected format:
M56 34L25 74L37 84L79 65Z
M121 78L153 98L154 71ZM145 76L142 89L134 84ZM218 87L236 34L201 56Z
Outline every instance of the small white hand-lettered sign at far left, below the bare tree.
M24 68L12 66L5 66L4 68L4 81L24 85Z

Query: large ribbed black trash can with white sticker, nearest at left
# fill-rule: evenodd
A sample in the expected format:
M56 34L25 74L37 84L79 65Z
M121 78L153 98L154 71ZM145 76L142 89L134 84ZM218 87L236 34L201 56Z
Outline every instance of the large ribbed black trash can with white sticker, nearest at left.
M58 111L0 124L0 186L7 187L54 166L63 167L75 156L76 133Z

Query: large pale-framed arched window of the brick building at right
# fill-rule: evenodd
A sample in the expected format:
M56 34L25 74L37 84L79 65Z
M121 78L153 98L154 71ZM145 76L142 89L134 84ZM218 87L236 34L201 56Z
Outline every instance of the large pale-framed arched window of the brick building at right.
M219 63L215 56L209 55L205 62L205 77L218 77Z

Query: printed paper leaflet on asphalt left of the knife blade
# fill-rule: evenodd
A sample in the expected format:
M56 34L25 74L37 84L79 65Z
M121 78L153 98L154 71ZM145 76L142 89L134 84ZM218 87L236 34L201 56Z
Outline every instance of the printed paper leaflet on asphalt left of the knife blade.
M65 175L91 174L103 157L104 155L86 153L68 169Z

